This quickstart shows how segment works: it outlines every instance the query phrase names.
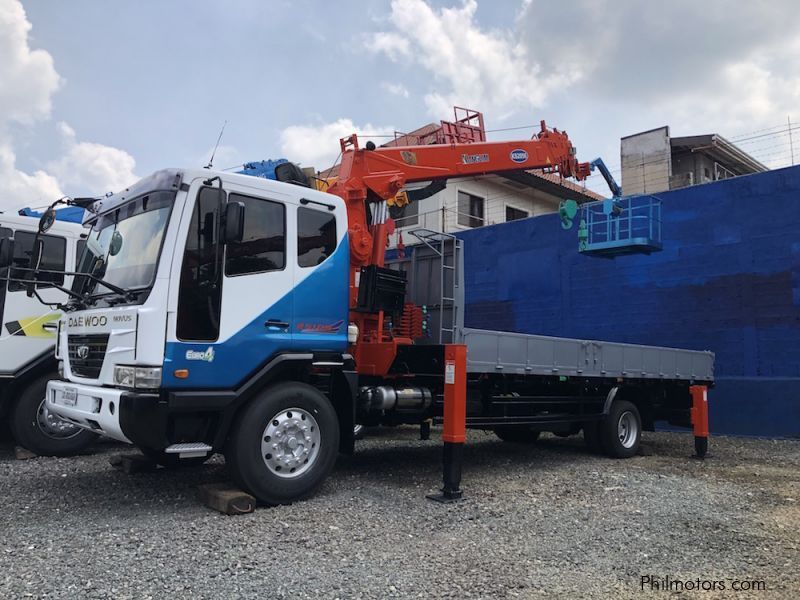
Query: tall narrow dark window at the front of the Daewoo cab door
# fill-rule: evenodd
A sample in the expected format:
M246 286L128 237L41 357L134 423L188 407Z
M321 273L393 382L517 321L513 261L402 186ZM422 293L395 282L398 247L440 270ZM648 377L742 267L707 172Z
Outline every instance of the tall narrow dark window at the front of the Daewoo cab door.
M181 265L177 334L182 340L214 341L219 337L222 248L217 244L218 217L219 192L202 188Z

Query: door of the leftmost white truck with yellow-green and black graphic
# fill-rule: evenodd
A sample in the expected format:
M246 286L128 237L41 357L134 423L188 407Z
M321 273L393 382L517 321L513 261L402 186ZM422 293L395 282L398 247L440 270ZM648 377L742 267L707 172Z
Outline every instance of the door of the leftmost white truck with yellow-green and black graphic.
M6 231L9 231L6 229ZM62 273L40 273L36 285L41 291L52 288L51 283L64 284L64 267L66 265L67 240L56 235L42 235L43 244L40 266L43 270L62 271ZM14 256L10 269L11 279L24 279L30 276L22 268L31 267L34 234L19 231L14 235ZM51 283L48 283L51 282ZM3 282L6 283L5 281ZM25 283L8 281L4 285L2 306L2 363L0 372L15 373L34 359L53 351L56 339L56 322L60 313L48 308L36 298L29 298L25 293ZM64 294L56 290L45 290L45 300L63 301Z

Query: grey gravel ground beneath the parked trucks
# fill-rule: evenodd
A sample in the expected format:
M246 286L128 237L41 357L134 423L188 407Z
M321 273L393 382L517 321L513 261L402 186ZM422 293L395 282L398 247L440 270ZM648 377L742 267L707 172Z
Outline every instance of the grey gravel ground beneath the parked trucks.
M440 444L358 442L311 500L227 517L195 499L224 463L127 475L122 446L14 460L0 447L0 597L628 598L640 577L720 580L677 597L800 597L800 442L648 434L650 456L471 433L455 505L428 502ZM731 594L732 580L766 591ZM645 590L645 596L676 597Z

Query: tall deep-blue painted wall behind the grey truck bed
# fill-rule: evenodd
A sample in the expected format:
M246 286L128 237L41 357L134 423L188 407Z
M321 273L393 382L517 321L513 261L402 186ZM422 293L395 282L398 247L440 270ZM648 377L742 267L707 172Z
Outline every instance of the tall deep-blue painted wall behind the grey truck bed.
M658 197L649 256L581 255L558 215L459 234L465 324L711 350L713 432L800 437L800 167Z

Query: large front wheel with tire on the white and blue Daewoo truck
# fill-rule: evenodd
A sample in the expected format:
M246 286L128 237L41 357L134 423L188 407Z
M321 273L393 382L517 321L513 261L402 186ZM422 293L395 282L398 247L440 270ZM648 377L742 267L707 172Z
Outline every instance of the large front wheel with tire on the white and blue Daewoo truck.
M304 383L268 387L236 419L225 462L234 481L268 505L311 496L333 469L339 423L328 399Z

